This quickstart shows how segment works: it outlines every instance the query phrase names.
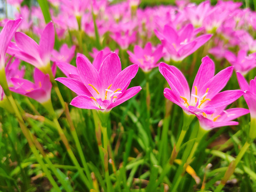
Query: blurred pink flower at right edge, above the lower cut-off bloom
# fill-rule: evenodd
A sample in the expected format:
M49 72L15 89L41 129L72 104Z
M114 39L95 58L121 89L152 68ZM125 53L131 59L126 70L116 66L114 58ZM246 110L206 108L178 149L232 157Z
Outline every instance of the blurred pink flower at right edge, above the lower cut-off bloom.
M236 56L233 52L226 51L225 58L242 75L246 75L251 69L256 67L256 53L247 56L245 50L239 50Z

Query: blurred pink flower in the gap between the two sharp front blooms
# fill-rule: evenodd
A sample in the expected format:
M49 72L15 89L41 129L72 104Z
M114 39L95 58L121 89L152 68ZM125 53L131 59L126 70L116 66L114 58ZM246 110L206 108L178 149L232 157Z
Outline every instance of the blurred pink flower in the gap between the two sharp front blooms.
M133 50L134 53L131 51L127 51L127 53L130 55L130 61L132 63L138 64L143 71L147 72L158 66L157 61L162 58L162 51L162 45L158 46L157 49L153 51L151 43L148 42L144 49L135 45Z

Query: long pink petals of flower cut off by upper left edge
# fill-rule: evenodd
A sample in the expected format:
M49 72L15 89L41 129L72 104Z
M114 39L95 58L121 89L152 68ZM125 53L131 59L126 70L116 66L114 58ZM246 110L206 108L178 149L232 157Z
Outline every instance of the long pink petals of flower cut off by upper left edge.
M0 33L0 70L5 66L5 54L13 34L19 27L21 19L8 21Z

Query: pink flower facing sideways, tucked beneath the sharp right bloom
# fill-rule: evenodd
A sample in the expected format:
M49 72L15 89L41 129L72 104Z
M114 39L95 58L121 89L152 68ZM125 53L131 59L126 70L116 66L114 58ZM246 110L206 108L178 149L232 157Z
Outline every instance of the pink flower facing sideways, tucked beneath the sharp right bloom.
M197 115L200 127L204 130L211 130L222 126L238 125L238 122L232 120L249 113L249 110L244 108L223 110L225 108L226 106L220 107L211 115L206 115L204 113L202 115Z

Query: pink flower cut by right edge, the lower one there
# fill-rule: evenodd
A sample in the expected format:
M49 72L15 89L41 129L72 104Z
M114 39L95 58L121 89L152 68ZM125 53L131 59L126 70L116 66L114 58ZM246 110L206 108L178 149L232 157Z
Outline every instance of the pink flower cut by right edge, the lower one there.
M251 118L256 119L256 77L251 79L249 85L243 75L240 73L236 73L236 75L241 90L245 92L244 99L249 107Z

